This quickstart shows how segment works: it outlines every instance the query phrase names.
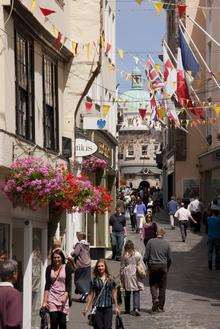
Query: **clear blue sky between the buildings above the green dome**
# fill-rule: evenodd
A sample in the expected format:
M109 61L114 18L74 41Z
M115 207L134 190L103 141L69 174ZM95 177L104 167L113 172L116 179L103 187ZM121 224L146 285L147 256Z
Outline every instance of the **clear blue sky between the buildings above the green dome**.
M158 15L150 1L138 5L135 0L116 0L116 47L132 52L121 60L117 56L119 91L130 89L131 82L121 77L120 71L131 72L135 66L133 55L146 59L151 54L155 62L160 62L161 40L165 35L165 10ZM143 70L139 64L138 67Z

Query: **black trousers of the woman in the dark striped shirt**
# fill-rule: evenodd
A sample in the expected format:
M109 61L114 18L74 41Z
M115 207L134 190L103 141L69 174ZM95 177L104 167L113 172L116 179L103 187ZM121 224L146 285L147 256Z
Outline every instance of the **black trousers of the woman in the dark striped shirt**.
M97 308L94 329L111 329L112 317L112 307Z

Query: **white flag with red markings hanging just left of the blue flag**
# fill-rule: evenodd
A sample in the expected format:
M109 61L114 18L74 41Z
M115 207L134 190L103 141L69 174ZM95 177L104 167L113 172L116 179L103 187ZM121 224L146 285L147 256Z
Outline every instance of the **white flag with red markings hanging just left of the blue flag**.
M166 94L171 97L177 88L177 71L168 55L165 44L163 44L163 65L164 89Z

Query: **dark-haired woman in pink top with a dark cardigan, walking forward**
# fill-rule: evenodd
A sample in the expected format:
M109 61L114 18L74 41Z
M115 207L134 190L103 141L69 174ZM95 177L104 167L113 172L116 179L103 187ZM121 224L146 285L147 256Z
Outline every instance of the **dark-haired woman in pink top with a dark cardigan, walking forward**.
M42 307L50 315L51 329L66 329L71 301L72 267L66 264L61 249L51 255L51 265L46 269L46 284Z

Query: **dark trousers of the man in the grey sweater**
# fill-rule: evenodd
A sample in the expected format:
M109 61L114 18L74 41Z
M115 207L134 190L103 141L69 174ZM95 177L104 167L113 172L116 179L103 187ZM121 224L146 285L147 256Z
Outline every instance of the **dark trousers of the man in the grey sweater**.
M149 285L154 306L163 309L167 287L167 265L149 264Z

